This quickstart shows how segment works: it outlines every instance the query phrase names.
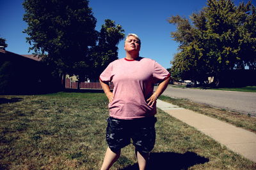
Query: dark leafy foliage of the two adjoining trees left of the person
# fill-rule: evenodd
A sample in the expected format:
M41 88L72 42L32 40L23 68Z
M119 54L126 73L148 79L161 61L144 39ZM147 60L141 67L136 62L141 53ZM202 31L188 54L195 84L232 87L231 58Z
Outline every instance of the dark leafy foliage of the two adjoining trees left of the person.
M26 0L24 20L27 41L56 76L75 74L79 81L92 78L92 69L100 70L117 57L117 43L124 30L106 20L100 32L87 0ZM101 61L102 60L102 61ZM99 76L98 76L99 77Z

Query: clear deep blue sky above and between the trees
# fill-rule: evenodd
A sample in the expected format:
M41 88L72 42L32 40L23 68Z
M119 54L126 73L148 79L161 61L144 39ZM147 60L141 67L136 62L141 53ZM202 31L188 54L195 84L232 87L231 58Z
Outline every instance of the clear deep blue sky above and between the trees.
M6 39L6 50L18 54L29 54L27 34L22 33L27 24L22 20L22 0L0 0L0 37ZM236 5L242 0L235 0ZM247 3L248 0L244 0ZM255 0L252 1L255 4ZM99 31L105 19L115 20L122 25L125 34L135 33L141 39L141 57L154 59L163 67L171 67L170 61L177 53L178 44L170 37L175 26L167 22L172 15L188 18L206 6L207 0L91 0L89 6L97 18ZM125 57L124 40L118 45L118 57Z

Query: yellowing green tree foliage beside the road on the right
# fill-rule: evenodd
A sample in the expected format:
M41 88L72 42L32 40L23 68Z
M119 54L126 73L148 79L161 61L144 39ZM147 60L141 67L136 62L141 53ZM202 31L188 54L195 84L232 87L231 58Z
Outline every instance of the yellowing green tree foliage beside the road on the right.
M188 19L172 16L177 25L172 37L179 42L179 52L172 61L176 78L204 83L221 73L256 69L255 6L251 2L235 6L231 0L208 0L207 6Z

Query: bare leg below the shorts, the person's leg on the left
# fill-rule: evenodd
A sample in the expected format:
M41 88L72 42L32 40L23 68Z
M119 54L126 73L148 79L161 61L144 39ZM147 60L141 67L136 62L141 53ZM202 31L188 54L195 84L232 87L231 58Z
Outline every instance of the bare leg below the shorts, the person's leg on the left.
M120 157L120 153L121 153L121 150L115 153L115 152L112 152L108 147L100 170L108 170Z

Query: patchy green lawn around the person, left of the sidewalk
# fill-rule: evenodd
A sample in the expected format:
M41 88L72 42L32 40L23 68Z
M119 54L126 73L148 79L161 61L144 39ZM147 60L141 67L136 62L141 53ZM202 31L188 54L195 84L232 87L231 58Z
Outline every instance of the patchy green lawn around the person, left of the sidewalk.
M0 96L0 169L99 169L106 150L104 94ZM193 127L157 113L150 169L256 169ZM113 169L136 169L132 145Z

